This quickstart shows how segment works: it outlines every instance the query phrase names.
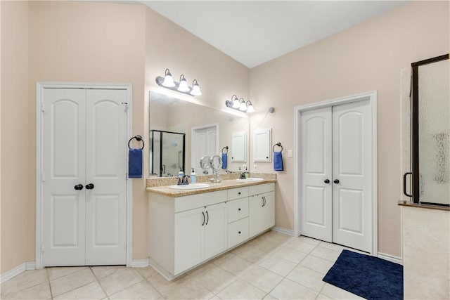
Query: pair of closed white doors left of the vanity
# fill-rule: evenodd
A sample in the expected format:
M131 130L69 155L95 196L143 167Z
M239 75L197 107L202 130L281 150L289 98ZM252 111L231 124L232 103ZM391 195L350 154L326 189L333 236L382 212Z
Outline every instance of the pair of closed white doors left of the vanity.
M43 93L42 265L126 264L127 91Z

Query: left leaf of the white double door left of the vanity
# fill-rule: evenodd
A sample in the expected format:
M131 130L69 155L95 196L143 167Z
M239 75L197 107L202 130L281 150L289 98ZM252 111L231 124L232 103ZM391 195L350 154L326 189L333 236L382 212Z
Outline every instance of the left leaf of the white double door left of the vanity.
M84 265L86 93L44 89L44 266Z

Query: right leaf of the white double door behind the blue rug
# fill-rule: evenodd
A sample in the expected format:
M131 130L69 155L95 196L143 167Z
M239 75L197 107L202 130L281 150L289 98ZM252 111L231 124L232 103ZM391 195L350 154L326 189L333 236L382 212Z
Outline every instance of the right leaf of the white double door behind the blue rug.
M371 252L371 114L368 100L333 106L333 242Z

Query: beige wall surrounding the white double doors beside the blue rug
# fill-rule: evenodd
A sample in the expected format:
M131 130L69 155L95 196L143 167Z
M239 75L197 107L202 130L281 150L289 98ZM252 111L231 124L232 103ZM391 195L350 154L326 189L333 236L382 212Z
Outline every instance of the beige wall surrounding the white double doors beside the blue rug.
M400 70L449 53L449 35L448 1L411 1L250 72L252 103L263 110L250 128L273 128L272 141L285 150L294 148L295 106L378 91L378 252L384 254L401 256ZM276 113L264 119L269 106ZM277 177L276 225L293 229L293 159L285 165ZM264 169L271 166L259 164Z

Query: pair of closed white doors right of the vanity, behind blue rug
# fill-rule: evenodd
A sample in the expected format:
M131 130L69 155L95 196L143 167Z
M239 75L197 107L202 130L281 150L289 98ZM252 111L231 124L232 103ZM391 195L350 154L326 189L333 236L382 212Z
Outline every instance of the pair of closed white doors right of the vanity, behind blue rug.
M301 112L301 234L371 252L369 100Z

